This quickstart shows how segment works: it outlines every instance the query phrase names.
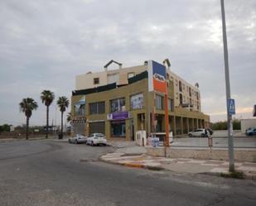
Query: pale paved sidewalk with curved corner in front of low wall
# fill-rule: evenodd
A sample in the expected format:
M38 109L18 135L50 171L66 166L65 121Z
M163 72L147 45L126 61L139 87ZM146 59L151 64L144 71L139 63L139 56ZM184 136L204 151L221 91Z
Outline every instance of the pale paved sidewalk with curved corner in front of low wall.
M137 151L137 152L134 152ZM133 153L134 152L134 153ZM100 159L117 165L145 168L150 170L171 170L181 173L221 175L229 174L229 162L223 160L194 160L186 158L165 158L138 154L138 149L128 148L101 156ZM244 172L246 179L256 180L256 163L236 162L235 170Z

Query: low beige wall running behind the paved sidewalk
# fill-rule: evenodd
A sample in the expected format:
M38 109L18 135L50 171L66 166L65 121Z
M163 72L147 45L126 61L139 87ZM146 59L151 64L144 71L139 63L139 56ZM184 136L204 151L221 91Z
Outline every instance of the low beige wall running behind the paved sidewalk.
M164 156L163 147L146 147L150 156ZM210 148L167 148L167 157L192 158L201 160L229 160L227 149ZM234 160L256 162L256 149L234 149Z

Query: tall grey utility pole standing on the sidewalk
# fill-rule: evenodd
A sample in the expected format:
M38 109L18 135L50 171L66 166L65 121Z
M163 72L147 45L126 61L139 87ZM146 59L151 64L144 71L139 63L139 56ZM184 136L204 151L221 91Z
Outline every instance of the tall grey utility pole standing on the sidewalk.
M227 120L228 120L228 136L229 136L229 172L234 172L234 143L232 134L232 115L229 113L229 99L230 99L230 83L229 83L229 55L228 43L225 25L225 7L224 0L220 0L221 17L222 17L222 35L224 46L224 61L225 61L225 84L226 84L226 104L227 104Z

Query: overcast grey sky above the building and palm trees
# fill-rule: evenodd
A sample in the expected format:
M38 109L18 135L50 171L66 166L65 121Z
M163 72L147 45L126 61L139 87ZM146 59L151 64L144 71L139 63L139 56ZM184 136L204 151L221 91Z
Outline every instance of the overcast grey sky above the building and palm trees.
M225 12L235 117L252 117L256 1L225 0ZM102 71L109 60L128 67L166 58L174 73L199 83L211 122L225 120L220 0L1 0L0 124L25 123L18 103L31 97L39 105L31 125L44 125L41 91L70 98L75 75ZM60 122L56 101L50 122Z

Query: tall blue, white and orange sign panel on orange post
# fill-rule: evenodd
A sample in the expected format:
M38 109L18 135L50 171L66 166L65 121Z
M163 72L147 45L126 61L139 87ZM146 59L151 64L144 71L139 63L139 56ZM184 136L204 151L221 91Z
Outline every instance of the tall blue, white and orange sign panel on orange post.
M164 65L156 61L148 61L148 89L149 91L157 91L167 93L167 71Z

